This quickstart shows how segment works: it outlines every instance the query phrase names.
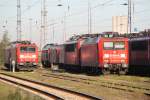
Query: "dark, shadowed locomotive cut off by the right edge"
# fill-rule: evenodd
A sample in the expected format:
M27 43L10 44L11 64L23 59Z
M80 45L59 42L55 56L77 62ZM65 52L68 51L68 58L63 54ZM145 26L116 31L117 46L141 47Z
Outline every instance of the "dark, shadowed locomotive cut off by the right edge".
M150 74L150 30L130 35L131 73Z

